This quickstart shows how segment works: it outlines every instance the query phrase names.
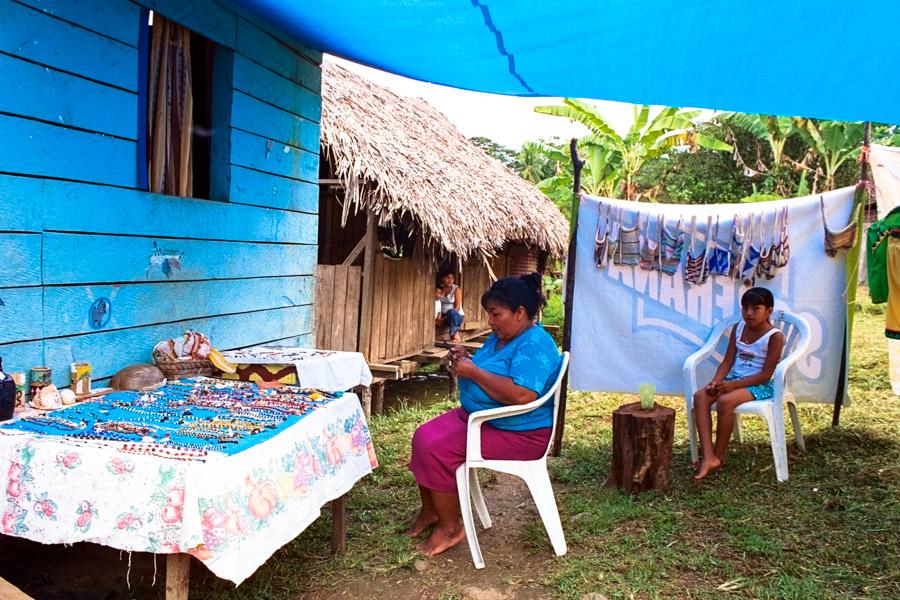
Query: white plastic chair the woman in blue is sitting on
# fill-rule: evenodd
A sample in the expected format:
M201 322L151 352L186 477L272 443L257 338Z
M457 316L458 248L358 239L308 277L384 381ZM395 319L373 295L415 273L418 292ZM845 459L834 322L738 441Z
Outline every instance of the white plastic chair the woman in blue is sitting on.
M559 520L559 511L556 508L556 498L553 496L553 487L550 485L550 474L547 471L547 452L553 442L556 433L557 414L559 413L559 392L563 374L569 366L569 353L563 352L560 360L559 373L549 392L528 404L516 406L501 406L488 410L480 410L469 415L469 425L466 438L466 462L456 469L456 485L459 490L459 504L462 509L463 525L466 527L466 538L469 540L469 550L472 552L472 562L476 569L484 568L484 558L481 555L481 546L478 544L478 536L475 532L475 522L472 516L472 502L485 529L489 529L493 523L488 514L484 496L481 493L481 484L478 482L478 469L493 469L503 473L510 473L525 480L528 485L534 504L537 506L544 528L550 537L553 551L557 556L566 553L566 538L563 534L562 523ZM544 455L535 460L490 460L481 456L481 425L492 419L511 417L531 412L547 401L553 401L553 431L550 433L550 443L544 450ZM471 496L471 501L470 501Z

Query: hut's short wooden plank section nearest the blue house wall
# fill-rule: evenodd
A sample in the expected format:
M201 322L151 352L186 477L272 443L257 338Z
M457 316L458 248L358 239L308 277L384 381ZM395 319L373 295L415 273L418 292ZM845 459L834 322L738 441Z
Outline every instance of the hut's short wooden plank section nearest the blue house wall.
M316 267L316 348L356 352L362 267Z

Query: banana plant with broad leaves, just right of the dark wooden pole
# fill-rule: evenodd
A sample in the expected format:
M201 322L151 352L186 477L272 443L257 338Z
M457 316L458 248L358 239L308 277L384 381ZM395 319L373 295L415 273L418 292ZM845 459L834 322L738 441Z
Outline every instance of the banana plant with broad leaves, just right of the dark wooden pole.
M596 106L581 100L566 98L561 106L538 106L534 110L568 118L590 129L590 135L578 142L587 171L582 175L583 187L605 196L637 200L636 180L644 164L677 147L732 150L724 141L695 131L693 119L700 111L666 107L651 119L649 106L635 106L634 121L621 136Z

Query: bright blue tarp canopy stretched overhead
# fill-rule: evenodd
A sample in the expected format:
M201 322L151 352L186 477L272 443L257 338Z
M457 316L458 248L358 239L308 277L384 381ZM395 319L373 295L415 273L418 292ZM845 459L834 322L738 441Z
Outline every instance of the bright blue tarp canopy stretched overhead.
M897 0L236 0L457 88L900 123Z

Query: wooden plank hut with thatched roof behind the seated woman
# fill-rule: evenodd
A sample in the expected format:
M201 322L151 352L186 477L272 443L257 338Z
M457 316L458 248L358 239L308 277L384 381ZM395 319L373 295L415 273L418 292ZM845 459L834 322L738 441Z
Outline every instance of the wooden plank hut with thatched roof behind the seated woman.
M438 262L458 266L464 337L475 338L491 279L565 252L553 202L422 100L325 62L321 132L319 348L359 350L376 375L400 377L436 350Z

